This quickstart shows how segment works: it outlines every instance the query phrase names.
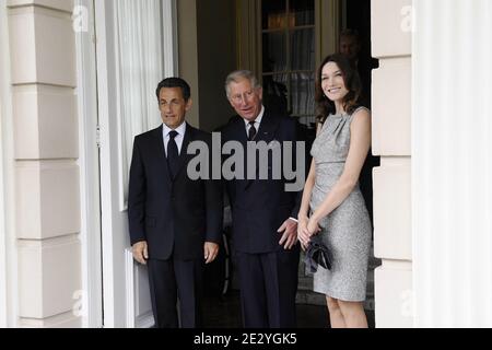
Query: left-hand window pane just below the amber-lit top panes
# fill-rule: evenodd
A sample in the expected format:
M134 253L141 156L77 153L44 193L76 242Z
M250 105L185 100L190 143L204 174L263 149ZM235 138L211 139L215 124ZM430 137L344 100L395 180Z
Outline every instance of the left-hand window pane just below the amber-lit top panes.
M286 70L285 33L263 34L263 73Z

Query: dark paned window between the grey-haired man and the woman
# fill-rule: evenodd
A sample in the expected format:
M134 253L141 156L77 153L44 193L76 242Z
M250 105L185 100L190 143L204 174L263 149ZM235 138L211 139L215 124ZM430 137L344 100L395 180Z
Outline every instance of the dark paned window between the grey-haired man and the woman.
M315 119L315 0L262 0L265 103L306 126Z

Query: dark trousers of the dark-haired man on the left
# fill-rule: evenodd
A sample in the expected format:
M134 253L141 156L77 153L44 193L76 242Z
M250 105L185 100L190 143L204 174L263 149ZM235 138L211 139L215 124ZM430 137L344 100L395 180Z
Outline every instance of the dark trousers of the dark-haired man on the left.
M157 328L201 327L203 261L148 260L152 311Z

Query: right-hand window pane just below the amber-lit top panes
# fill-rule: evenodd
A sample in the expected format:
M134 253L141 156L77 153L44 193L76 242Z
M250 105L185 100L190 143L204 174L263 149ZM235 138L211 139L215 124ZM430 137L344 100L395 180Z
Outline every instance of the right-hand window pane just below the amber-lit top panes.
M290 33L292 70L315 70L314 28L297 30Z

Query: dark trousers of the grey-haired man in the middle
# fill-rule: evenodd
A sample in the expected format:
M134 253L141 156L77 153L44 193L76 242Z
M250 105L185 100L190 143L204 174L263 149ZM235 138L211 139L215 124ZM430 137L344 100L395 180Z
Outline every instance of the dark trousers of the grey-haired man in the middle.
M296 326L298 245L266 254L237 253L241 304L246 328Z

